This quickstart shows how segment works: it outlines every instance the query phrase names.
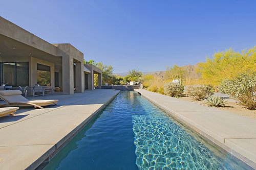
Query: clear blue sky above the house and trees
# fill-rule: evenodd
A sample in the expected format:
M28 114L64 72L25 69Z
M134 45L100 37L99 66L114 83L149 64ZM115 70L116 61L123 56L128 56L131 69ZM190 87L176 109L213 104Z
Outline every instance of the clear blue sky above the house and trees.
M255 46L255 7L254 0L8 0L0 15L50 43L71 43L114 72L146 72Z

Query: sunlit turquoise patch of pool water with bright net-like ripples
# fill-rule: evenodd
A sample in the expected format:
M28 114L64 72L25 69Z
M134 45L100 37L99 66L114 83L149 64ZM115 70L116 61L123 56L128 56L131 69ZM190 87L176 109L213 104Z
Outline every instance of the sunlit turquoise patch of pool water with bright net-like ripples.
M227 169L208 148L159 112L133 116L139 169Z

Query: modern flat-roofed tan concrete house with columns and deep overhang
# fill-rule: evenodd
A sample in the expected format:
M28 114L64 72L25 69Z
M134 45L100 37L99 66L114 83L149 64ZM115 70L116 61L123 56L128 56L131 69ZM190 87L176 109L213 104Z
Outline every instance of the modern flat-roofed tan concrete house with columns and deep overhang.
M83 53L69 43L51 44L0 16L0 80L13 87L62 87L63 94L94 89L94 74Z

